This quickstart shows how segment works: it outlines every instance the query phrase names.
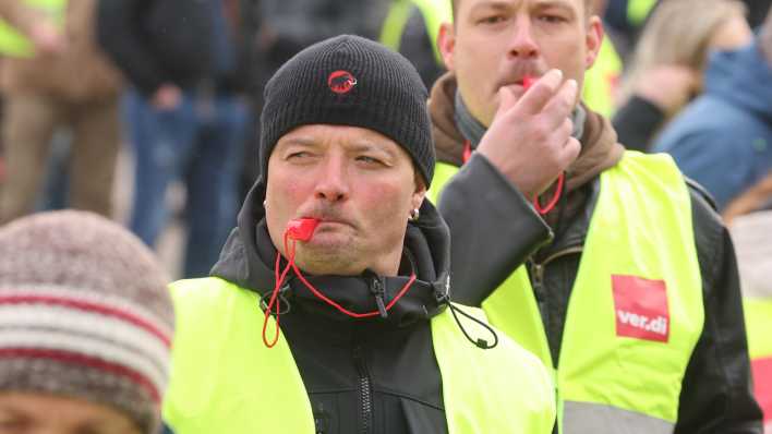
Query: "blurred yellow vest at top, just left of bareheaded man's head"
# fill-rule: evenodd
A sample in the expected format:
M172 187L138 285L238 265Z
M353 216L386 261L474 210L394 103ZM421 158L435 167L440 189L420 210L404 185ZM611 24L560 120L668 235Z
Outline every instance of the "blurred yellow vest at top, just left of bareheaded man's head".
M399 51L405 26L410 20L413 8L418 8L423 16L426 27L426 36L432 41L434 58L437 63L443 62L439 48L437 47L437 35L439 26L445 22L453 21L453 12L448 0L394 0L384 21L381 31L381 44Z

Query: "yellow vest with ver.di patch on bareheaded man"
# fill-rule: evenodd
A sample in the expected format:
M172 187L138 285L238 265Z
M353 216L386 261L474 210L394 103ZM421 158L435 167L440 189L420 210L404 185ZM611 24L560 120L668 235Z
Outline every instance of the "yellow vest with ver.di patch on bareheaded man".
M447 177L444 166L435 170ZM435 196L437 181L447 178L435 177ZM691 225L689 193L670 156L626 152L601 174L555 371L562 433L673 431L704 315ZM524 267L483 309L553 365Z

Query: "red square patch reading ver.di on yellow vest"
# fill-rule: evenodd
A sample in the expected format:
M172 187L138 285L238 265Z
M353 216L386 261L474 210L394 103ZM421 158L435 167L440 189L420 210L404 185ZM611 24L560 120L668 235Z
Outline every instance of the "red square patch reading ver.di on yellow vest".
M671 314L664 280L612 275L616 336L667 342Z

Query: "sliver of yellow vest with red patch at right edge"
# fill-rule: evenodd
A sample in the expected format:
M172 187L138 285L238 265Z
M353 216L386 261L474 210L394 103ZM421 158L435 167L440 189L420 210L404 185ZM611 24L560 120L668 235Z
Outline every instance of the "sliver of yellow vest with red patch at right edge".
M753 393L764 412L764 425L772 430L772 300L745 299L748 351L753 370Z

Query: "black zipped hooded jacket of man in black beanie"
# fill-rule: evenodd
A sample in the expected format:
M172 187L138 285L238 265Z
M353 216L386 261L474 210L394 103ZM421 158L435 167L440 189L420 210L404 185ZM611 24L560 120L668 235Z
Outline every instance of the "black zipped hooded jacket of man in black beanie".
M276 250L256 184L212 274L262 296L274 288ZM387 318L350 318L316 299L297 278L282 291L281 333L309 393L317 433L446 433L439 369L430 318L445 309L438 293L449 268L448 230L429 201L408 226L398 277L315 276L310 281L354 312L388 302L412 268L418 279ZM436 288L436 289L435 289Z

